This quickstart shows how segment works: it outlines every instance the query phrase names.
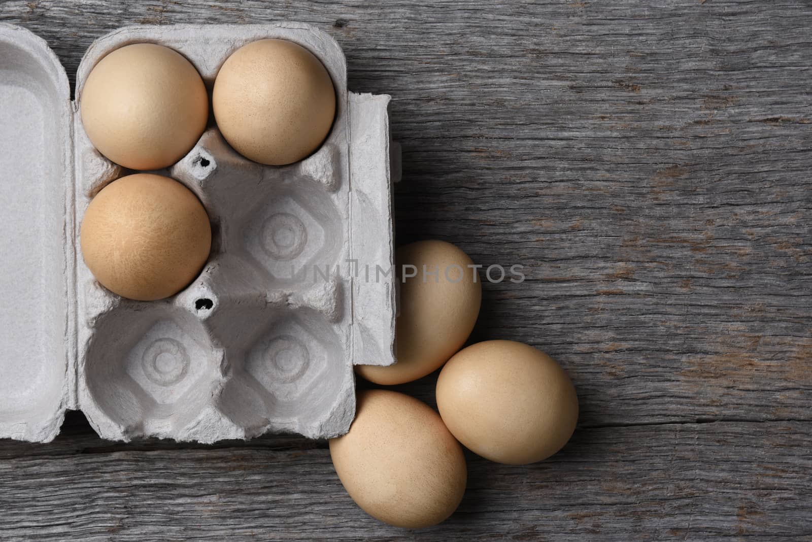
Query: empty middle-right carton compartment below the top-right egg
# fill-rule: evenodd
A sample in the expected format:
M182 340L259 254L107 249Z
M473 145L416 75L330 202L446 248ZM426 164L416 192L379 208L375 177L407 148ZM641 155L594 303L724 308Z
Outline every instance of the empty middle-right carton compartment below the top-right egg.
M254 285L273 290L346 263L348 191L341 190L345 171L333 143L292 166L247 165L212 128L171 176L218 224L219 252L263 275Z

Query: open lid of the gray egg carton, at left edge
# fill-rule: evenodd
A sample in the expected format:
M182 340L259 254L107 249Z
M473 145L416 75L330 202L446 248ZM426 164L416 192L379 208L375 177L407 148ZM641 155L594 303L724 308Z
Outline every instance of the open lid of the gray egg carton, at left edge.
M50 441L75 351L73 150L67 74L47 43L0 24L0 434Z

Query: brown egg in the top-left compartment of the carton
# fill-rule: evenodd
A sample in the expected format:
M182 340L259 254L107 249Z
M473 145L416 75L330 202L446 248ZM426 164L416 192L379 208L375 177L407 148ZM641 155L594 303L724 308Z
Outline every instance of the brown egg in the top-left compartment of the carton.
M126 45L102 58L84 82L80 105L91 143L132 170L179 161L209 117L209 97L195 67L153 43Z

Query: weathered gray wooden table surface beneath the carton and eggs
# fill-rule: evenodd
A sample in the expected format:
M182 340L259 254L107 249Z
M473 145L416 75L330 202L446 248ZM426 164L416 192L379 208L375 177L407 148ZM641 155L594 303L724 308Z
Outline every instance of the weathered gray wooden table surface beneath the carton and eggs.
M124 2L121 2L124 3ZM72 77L125 24L292 19L389 92L399 243L441 238L486 285L473 340L568 370L555 457L469 456L446 523L367 517L326 443L0 441L3 540L812 540L812 3L12 1ZM0 172L2 174L2 172ZM436 375L408 393L433 402Z

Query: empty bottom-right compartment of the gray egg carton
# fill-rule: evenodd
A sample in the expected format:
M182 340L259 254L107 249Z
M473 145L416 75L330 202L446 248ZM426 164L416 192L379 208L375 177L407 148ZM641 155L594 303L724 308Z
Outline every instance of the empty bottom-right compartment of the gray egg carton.
M337 420L352 422L353 373L342 359L340 319L283 303L240 315L244 333L226 350L230 378L218 411L248 437L269 427L316 437L333 432Z

